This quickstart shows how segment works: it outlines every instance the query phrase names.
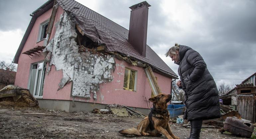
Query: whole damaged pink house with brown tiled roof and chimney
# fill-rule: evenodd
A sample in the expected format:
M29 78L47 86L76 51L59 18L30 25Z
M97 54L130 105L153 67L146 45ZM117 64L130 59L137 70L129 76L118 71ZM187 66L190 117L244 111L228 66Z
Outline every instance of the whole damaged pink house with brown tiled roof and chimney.
M144 69L151 67L166 94L178 77L146 44L148 7L130 7L127 30L76 1L47 1L31 14L15 55L15 85L29 89L41 108L119 104L147 114L152 91Z

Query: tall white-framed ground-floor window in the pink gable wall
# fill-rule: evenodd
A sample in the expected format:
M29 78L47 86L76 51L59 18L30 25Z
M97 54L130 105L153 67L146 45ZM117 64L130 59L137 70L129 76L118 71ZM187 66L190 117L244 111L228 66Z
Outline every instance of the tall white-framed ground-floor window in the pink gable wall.
M44 62L32 65L29 90L35 97L43 96L44 71Z

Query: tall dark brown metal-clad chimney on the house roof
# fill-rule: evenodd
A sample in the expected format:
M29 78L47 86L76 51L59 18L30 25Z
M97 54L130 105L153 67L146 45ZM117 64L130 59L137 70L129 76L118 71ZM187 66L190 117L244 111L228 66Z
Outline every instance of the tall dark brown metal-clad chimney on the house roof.
M150 5L146 1L129 7L132 11L128 41L144 57L147 45L148 7Z

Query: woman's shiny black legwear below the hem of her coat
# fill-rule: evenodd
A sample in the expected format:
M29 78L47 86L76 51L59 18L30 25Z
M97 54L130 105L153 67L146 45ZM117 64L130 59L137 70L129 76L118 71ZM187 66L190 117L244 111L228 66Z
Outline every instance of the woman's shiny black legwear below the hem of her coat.
M202 119L190 121L190 137L189 139L199 139L202 128Z

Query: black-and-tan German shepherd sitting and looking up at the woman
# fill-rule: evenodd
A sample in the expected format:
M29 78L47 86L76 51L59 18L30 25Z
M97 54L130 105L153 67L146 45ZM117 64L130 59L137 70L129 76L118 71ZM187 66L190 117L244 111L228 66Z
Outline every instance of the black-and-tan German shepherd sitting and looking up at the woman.
M164 134L168 139L180 139L172 133L169 126L170 114L167 110L167 103L171 101L171 99L172 95L162 93L150 98L149 101L153 102L153 109L149 115L139 123L138 128L123 129L120 130L119 133L124 135L153 137L160 137Z

